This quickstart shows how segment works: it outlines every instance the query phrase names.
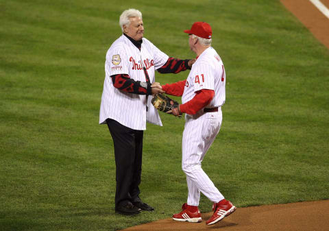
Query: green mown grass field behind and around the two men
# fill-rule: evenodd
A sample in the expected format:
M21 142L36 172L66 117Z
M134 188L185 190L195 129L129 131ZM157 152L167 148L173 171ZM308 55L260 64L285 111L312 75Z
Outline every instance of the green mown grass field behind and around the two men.
M227 100L203 168L224 196L238 207L329 199L329 51L279 1L0 1L1 230L120 230L186 202L184 119L161 114L163 127L147 125L141 183L156 211L114 214L113 145L98 117L127 8L177 58L195 56L184 29L212 25ZM199 208L210 211L206 197Z

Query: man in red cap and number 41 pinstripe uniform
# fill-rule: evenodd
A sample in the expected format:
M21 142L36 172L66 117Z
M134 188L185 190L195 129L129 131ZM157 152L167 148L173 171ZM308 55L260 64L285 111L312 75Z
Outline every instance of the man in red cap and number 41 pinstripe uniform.
M188 43L197 60L184 81L162 86L168 95L182 96L182 104L167 112L185 114L182 141L182 170L188 186L187 203L182 212L173 215L175 221L201 222L200 192L214 204L211 225L230 215L236 207L216 188L201 167L201 162L221 128L221 107L226 100L226 73L218 53L211 47L212 29L208 23L193 23ZM220 170L220 169L219 169Z

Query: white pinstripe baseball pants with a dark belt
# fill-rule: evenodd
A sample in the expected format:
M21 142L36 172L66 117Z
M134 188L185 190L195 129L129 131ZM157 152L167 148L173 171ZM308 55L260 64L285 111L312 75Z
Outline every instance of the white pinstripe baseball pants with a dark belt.
M224 197L202 169L201 162L221 128L221 108L218 112L186 114L185 120L182 140L182 170L186 174L188 186L187 204L198 206L200 192L211 202L219 202Z

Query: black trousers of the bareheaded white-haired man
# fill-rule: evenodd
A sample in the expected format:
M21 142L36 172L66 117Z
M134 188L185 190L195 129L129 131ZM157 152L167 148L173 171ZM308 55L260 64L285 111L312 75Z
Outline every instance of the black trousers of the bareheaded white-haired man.
M141 193L143 130L133 130L106 119L114 143L117 189L115 207L139 199Z

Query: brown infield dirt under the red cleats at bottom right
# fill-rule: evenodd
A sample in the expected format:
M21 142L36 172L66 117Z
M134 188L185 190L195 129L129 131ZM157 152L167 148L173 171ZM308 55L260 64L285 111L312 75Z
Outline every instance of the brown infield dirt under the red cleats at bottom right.
M202 214L203 221L201 223L173 221L173 219L168 218L140 226L134 226L125 230L328 231L328 210L329 200L277 204L271 206L253 206L236 208L236 211L232 213L232 215L211 226L206 225L206 220L212 215L212 212L208 212Z

